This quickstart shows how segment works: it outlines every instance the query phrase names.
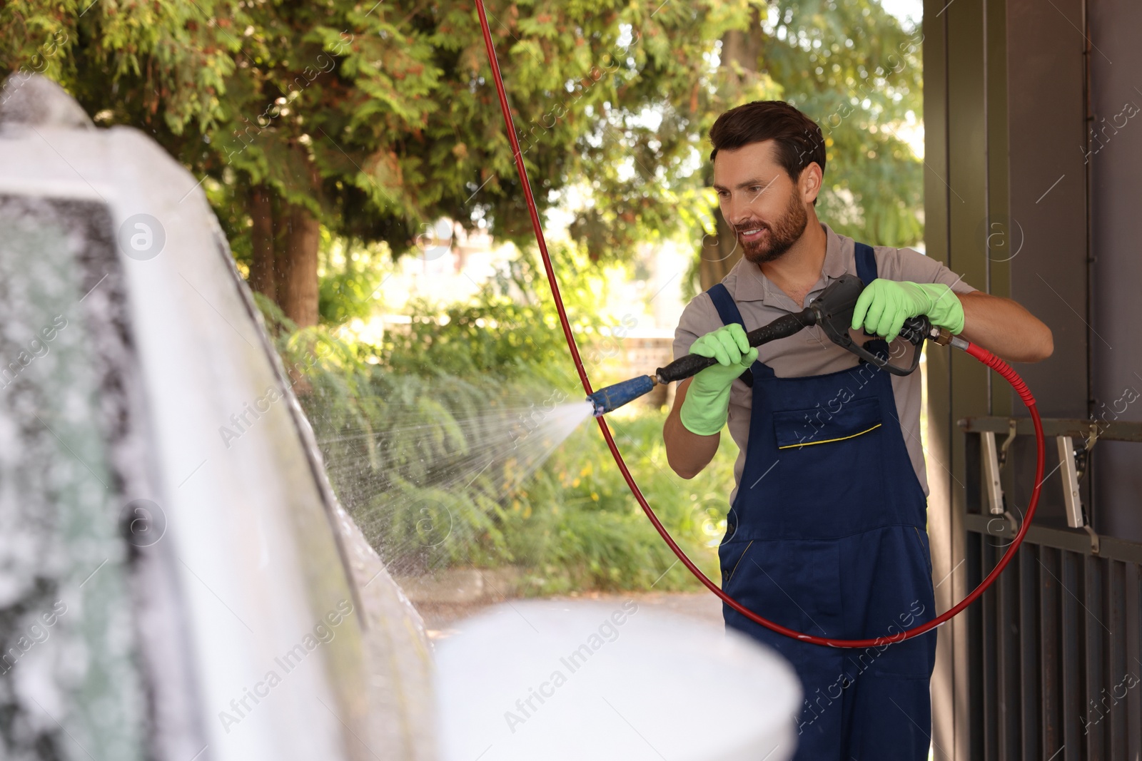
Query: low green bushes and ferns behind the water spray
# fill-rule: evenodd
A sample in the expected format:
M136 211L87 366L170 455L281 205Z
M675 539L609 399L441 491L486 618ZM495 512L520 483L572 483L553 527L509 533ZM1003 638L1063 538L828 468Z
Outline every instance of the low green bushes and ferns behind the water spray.
M268 300L258 303L335 489L396 573L513 565L536 593L693 586L677 568L656 584L674 557L595 423L534 472L540 442L513 446L508 431L522 430L537 407L581 396L550 306L529 296L532 306L499 294L450 306L443 326L439 310L421 303L409 332L391 332L384 347L338 340L328 327L296 331ZM582 346L590 350L592 341ZM657 410L612 422L651 504L716 574L710 542L724 529L732 455L683 480L666 467L661 424Z

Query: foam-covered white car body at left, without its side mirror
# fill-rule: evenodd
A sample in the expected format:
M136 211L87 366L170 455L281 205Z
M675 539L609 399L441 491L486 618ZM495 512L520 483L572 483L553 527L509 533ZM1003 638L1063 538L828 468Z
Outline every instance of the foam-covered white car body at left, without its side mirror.
M0 758L435 758L419 616L196 178L0 100Z

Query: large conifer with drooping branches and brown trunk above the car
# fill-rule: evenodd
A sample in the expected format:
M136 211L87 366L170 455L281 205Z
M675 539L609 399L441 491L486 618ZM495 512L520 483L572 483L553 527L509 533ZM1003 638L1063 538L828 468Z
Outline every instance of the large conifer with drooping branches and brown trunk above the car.
M749 7L489 9L540 207L600 183L577 226L594 257L679 224L694 135L646 118L694 90ZM317 321L322 225L396 254L439 217L530 237L471 2L15 0L0 34L14 70L63 34L48 75L98 123L136 126L208 176L251 284L299 325Z

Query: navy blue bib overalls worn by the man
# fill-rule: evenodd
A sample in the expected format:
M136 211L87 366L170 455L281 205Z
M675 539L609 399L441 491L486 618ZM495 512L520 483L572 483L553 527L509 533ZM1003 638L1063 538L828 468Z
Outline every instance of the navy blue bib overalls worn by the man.
M856 274L876 278L872 249L861 243ZM724 285L708 293L723 323L757 327L742 323ZM883 340L868 348L887 356ZM777 378L762 362L750 370L746 465L718 548L725 592L819 637L892 637L933 618L926 499L891 375L864 362L805 378ZM723 615L801 677L795 761L927 759L934 631L880 648L829 648L778 634L729 606Z

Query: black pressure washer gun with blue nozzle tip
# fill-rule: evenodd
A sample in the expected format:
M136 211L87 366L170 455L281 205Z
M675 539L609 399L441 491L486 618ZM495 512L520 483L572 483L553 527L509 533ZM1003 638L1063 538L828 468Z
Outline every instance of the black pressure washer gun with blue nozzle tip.
M956 341L964 343L964 347L967 346L966 341L952 337L947 329L932 325L927 317L911 317L904 322L903 327L900 330L900 337L915 347L911 365L900 367L892 364L891 357L884 357L869 351L862 343L854 341L849 333L849 329L852 325L853 310L856 308L856 299L863 290L864 283L861 282L860 277L855 275L842 275L838 280L829 283L821 291L821 294L813 299L803 310L797 314L778 317L769 325L763 325L757 330L746 333L749 346L769 343L770 341L794 335L805 327L820 325L821 330L825 331L825 334L834 343L852 351L861 359L882 370L887 370L894 375L908 375L919 366L920 346L925 339L932 340L940 346L947 346L948 343L955 346ZM866 333L866 335L869 335L869 333ZM659 367L654 371L653 375L640 375L621 383L601 388L588 396L587 400L594 405L595 416L598 418L648 394L659 383L684 380L715 364L717 364L717 359L714 357L687 354L684 357L675 359L666 367Z

